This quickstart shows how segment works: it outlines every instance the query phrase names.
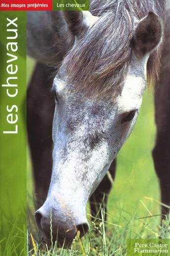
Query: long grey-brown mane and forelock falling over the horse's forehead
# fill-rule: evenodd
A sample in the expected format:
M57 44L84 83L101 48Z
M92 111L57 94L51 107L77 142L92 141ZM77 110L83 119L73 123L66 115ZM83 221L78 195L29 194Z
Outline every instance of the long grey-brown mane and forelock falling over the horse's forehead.
M69 82L93 95L108 94L113 86L120 91L131 61L134 18L154 11L164 19L164 5L165 0L92 0L91 12L100 19L65 59ZM158 79L160 59L161 45L148 60L148 83Z

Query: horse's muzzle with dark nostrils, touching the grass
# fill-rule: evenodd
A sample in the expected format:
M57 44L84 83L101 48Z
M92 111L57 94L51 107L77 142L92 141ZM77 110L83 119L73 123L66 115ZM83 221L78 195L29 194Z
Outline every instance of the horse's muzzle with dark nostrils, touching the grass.
M85 207L71 207L65 204L48 204L36 211L35 221L47 245L69 248L77 232L80 238L88 231Z

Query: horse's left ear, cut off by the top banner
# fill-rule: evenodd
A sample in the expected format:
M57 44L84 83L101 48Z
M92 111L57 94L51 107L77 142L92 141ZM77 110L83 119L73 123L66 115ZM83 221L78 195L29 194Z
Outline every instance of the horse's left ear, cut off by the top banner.
M64 11L63 14L73 36L83 35L98 20L90 11Z

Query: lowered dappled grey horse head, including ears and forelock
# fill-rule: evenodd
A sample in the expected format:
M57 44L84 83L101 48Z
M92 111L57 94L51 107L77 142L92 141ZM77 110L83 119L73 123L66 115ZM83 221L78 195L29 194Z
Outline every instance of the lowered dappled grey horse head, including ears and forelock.
M47 240L52 234L69 247L78 230L88 231L87 201L135 126L163 29L155 13L138 20L126 8L63 17L74 44L53 83L53 170L35 219Z

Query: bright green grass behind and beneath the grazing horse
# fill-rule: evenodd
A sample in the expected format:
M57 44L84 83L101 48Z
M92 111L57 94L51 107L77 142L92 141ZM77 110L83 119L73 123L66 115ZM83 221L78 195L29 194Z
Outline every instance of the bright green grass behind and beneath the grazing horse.
M31 74L33 61L28 59ZM122 256L126 255L127 238L170 238L170 219L160 226L159 183L152 160L156 127L154 123L154 103L152 88L146 90L136 127L130 138L118 154L116 178L109 195L107 223L100 220L91 221L89 205L87 206L90 229L79 240L76 237L70 250L46 248L41 245L34 225L34 204L32 199L31 164L28 161L28 192L30 209L30 232L33 233L36 246L30 255L40 256ZM105 230L105 227L106 230ZM32 241L30 248L33 248ZM44 249L43 249L44 248Z

